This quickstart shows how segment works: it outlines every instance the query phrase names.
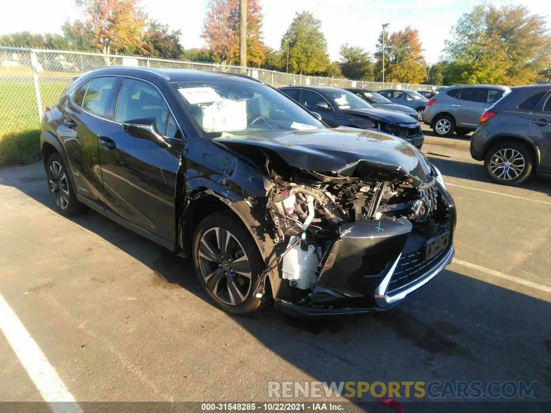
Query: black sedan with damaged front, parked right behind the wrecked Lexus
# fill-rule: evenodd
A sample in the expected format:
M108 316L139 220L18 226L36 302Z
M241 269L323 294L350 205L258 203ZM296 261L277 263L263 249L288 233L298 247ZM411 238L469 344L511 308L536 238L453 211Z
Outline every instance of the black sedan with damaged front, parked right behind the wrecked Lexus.
M328 86L286 86L279 90L320 115L332 128L376 128L407 140L419 149L423 146L425 137L419 122L403 113L377 109L348 90Z

